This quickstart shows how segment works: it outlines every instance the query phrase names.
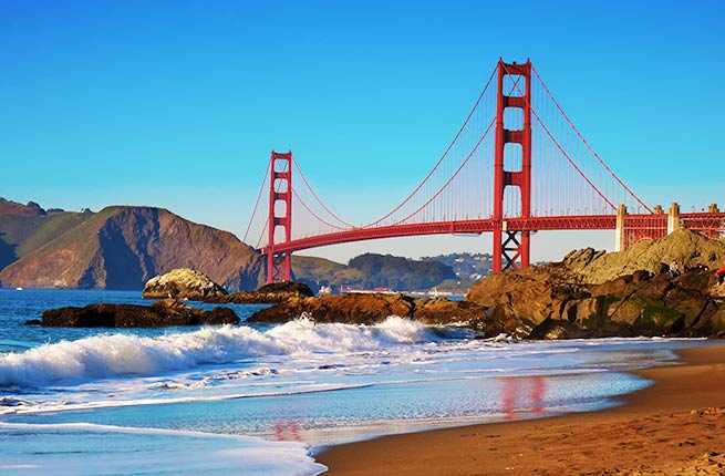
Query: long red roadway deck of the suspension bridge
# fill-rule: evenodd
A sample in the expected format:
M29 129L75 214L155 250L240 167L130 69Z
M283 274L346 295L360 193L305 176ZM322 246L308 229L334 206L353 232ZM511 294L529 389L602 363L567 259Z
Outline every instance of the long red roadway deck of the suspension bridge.
M690 213L681 214L684 228L700 231L725 230L725 213ZM579 215L559 217L507 218L506 228L517 231L548 230L613 230L617 228L617 215ZM491 218L480 218L455 221L433 221L422 224L400 224L379 227L350 228L345 230L314 235L275 245L275 252L300 251L329 245L351 241L365 241L382 238L400 238L424 235L483 234L494 230ZM638 214L624 217L625 230L662 230L667 229L667 215ZM267 253L267 248L262 248Z

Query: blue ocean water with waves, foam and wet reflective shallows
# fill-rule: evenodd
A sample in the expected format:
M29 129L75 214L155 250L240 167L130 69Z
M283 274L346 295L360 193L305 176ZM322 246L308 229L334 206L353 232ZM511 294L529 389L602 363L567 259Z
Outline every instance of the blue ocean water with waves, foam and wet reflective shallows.
M697 340L480 340L377 325L25 327L138 292L0 290L0 474L314 475L324 445L615 405ZM242 318L259 306L232 306Z

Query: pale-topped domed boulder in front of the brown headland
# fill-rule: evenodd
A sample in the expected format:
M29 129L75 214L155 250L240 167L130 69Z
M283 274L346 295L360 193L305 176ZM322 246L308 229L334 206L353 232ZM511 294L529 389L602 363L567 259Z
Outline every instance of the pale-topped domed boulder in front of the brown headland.
M142 296L147 299L205 301L222 298L227 296L227 290L201 271L178 268L149 279Z

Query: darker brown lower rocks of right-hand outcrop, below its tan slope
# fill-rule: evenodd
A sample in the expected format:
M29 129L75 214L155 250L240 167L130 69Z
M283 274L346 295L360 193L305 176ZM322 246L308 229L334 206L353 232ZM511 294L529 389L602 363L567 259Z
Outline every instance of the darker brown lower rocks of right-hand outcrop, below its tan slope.
M607 256L581 252L569 259L581 266ZM725 337L721 286L708 267L693 266L623 276L612 269L605 271L614 278L586 282L565 261L487 277L467 299L486 308L504 332L527 339Z

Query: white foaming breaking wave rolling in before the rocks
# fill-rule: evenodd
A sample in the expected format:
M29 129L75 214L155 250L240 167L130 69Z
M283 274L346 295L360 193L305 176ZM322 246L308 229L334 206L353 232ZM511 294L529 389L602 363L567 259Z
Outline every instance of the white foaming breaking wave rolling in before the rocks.
M157 375L268 355L375 351L439 341L439 332L391 317L376 325L315 324L300 319L265 332L227 325L157 338L94 335L0 355L0 387L43 387L123 375Z

